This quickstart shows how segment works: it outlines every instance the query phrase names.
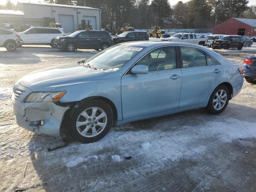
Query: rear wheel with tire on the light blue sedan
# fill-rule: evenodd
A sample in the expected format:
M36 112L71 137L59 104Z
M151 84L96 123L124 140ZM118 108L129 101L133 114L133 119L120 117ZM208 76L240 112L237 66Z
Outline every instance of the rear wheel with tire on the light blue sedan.
M225 96L226 92L226 96ZM217 97L217 93L220 95L222 93L222 98ZM210 96L206 111L210 114L219 114L224 111L228 105L228 100L230 98L229 90L226 86L220 85L214 89L212 95ZM223 103L225 102L225 103Z

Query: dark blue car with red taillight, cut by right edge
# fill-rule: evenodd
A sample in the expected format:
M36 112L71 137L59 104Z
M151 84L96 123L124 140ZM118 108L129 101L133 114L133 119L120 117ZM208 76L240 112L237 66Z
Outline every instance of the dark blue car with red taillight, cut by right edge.
M244 60L244 78L248 83L256 84L256 56Z

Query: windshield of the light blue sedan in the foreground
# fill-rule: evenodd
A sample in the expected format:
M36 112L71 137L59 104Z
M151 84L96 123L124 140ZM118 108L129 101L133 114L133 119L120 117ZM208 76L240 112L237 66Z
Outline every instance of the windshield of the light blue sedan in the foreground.
M117 44L84 61L84 66L98 70L118 70L144 48L144 46Z

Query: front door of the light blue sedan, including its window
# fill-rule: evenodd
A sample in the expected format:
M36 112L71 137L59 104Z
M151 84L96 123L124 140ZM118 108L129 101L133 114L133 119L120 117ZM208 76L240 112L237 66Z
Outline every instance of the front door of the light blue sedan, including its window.
M123 118L134 118L177 109L180 100L181 70L176 61L176 46L157 48L136 65L146 65L148 74L122 76Z

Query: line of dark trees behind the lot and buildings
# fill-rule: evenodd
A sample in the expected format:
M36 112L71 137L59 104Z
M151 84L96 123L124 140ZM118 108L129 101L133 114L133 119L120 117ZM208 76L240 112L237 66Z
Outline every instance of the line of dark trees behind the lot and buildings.
M256 18L248 0L190 0L170 6L168 0L45 0L102 10L102 27L130 23L134 28L212 28L232 17Z

